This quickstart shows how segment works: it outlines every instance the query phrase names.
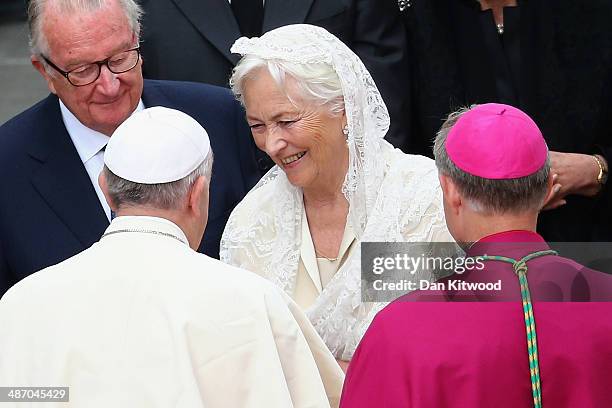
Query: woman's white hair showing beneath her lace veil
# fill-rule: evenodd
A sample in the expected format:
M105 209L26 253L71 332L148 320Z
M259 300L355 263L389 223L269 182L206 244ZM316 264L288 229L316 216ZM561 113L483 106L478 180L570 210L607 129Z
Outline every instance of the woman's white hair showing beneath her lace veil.
M287 93L287 78L293 78L299 96L307 102L325 107L331 114L344 111L344 93L340 78L329 64L296 64L278 59L266 60L255 55L245 55L234 68L230 86L236 98L244 106L245 84L256 79L261 70L270 73L276 84L295 104Z

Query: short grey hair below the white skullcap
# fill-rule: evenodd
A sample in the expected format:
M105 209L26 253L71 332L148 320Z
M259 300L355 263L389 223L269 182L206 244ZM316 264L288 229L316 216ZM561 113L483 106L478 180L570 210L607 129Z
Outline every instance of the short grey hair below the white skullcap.
M210 182L212 174L213 153L210 151L194 171L186 177L170 183L140 184L125 180L104 166L104 177L108 194L118 207L146 206L163 210L180 208L193 183L200 176L206 177Z

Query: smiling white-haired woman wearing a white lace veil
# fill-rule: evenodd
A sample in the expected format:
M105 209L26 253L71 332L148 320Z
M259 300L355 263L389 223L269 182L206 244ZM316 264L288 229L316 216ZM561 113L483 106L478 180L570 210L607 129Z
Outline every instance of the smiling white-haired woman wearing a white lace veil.
M383 306L361 302L360 242L452 240L435 165L383 139L389 114L372 77L326 30L284 26L232 52L243 55L232 90L277 165L230 216L221 259L292 296L348 361Z

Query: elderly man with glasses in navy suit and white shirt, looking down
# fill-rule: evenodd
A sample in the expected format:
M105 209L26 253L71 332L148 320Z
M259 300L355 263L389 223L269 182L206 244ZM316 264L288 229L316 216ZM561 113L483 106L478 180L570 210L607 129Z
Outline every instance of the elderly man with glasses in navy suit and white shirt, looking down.
M133 0L32 0L28 11L32 64L51 95L0 127L0 295L100 238L111 218L97 184L104 147L144 107L181 110L209 132L216 159L199 250L218 257L229 213L261 176L229 91L143 80Z

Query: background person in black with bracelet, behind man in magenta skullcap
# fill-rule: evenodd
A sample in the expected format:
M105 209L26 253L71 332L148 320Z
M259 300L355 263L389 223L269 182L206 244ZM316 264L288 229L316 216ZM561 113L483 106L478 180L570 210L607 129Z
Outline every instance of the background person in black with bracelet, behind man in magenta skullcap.
M430 155L440 124L460 106L518 107L542 129L556 174L538 231L549 241L612 241L612 2L400 5L412 55L411 151Z

